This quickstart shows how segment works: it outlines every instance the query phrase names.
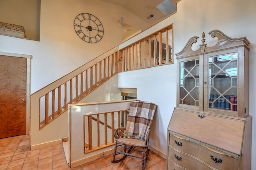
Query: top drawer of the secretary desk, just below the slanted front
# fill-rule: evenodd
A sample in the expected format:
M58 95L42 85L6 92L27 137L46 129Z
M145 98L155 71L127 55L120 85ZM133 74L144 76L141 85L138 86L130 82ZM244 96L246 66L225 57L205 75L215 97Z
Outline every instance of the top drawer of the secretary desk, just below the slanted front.
M195 157L216 169L238 169L238 156L232 156L171 133L169 150L172 150L172 148Z

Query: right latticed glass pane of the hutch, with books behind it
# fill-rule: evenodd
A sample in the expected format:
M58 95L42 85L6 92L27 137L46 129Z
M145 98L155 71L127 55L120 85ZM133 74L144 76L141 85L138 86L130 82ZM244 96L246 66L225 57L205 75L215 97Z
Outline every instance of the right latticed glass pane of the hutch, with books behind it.
M237 111L237 59L237 53L208 58L208 107Z

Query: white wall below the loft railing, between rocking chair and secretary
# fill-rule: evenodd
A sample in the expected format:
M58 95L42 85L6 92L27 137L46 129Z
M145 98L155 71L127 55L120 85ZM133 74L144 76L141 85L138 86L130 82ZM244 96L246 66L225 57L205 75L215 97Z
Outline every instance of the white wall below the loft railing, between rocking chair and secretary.
M137 88L137 99L158 105L149 145L165 155L167 127L176 106L176 64L119 73L118 87Z

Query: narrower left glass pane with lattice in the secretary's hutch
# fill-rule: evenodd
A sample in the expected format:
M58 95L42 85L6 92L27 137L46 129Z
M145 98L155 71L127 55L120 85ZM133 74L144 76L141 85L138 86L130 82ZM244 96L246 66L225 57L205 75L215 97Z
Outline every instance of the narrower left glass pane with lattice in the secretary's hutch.
M180 104L199 106L199 59L180 62Z

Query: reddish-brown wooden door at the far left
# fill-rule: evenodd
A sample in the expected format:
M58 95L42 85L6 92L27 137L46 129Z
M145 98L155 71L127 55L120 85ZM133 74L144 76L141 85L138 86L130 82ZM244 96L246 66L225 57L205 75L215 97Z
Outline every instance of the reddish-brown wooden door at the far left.
M0 55L0 138L26 134L27 59Z

